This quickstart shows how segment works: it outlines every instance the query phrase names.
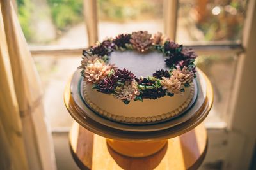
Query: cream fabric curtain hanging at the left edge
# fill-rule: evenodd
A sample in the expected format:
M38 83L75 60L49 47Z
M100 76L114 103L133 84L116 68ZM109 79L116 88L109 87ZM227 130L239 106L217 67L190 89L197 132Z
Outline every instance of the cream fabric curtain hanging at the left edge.
M0 6L0 169L56 169L31 53L13 1Z

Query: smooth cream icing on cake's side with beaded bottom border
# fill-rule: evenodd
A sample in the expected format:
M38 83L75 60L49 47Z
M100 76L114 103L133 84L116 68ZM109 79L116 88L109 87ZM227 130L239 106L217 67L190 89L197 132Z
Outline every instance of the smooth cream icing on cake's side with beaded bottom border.
M184 111L194 96L194 85L185 89L184 94L173 97L164 96L156 100L144 99L143 102L131 101L124 104L109 94L92 89L92 85L83 85L86 103L93 111L119 122L155 122L174 117Z

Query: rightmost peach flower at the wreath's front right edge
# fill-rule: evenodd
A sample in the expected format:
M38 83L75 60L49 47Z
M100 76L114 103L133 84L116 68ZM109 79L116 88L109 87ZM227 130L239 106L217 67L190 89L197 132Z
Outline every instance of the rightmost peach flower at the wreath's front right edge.
M186 83L191 83L194 78L194 73L188 70L188 67L183 67L182 69L177 68L172 70L172 76L177 78L182 85Z

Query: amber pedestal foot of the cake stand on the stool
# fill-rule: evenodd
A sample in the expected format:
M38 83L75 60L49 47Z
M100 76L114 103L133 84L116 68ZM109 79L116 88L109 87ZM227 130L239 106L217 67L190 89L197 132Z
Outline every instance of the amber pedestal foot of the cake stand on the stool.
M161 150L167 140L161 141L118 141L107 139L108 145L127 157L147 157Z

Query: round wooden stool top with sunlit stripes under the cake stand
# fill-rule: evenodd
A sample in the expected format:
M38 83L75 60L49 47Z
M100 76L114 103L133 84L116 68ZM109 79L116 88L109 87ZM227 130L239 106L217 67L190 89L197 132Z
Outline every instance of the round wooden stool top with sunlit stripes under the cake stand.
M142 158L116 153L106 143L106 138L76 122L70 130L69 140L72 156L81 169L197 169L207 151L207 132L202 124L168 139L159 152Z

